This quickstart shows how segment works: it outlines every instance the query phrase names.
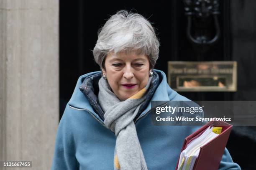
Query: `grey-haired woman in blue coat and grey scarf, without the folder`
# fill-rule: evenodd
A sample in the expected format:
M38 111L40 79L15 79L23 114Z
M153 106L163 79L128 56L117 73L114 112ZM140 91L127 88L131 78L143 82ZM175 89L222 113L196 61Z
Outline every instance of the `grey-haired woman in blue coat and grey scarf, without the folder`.
M188 100L153 70L159 41L148 20L119 11L93 50L102 71L79 77L61 118L52 169L174 170L184 138L196 127L154 126L152 100ZM225 150L221 170L239 170Z

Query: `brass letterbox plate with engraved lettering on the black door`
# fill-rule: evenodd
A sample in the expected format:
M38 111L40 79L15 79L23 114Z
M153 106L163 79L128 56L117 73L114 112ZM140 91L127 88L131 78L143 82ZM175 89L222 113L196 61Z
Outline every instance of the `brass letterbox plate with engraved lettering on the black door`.
M175 91L236 91L236 61L169 61L168 83Z

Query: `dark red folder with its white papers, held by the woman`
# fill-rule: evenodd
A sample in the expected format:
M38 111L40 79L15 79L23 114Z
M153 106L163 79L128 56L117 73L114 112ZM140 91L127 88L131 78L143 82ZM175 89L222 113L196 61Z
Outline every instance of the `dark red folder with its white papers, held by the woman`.
M216 170L220 165L232 125L211 121L186 137L176 170Z

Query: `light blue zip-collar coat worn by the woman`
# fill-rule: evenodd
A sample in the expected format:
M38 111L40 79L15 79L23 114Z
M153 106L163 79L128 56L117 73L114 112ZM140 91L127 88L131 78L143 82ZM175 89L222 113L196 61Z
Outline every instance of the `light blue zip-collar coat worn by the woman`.
M151 100L188 100L169 87L163 71L155 71L161 81ZM85 78L99 73L82 75L77 81L57 130L52 170L114 169L115 134L105 127L103 120L79 89ZM185 137L199 127L154 126L148 114L150 109L149 102L135 123L148 170L174 170ZM232 161L227 149L219 170L241 170Z

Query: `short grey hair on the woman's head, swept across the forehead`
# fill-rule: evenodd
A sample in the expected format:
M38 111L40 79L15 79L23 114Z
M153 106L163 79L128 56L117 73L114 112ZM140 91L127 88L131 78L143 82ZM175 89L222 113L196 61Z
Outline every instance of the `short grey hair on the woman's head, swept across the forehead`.
M104 62L108 53L129 53L133 50L148 56L150 67L153 69L159 57L159 40L146 18L138 13L120 10L98 31L93 56L96 63L105 69Z

